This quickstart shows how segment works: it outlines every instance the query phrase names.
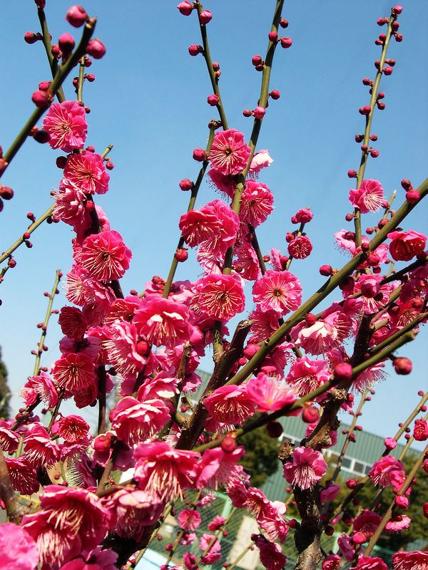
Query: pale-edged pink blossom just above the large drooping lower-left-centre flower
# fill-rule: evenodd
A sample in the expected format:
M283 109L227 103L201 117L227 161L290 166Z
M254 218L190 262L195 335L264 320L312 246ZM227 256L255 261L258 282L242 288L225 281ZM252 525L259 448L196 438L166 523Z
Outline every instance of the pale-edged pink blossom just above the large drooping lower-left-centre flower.
M170 419L170 413L163 400L141 403L126 396L111 410L110 418L118 439L131 447L160 431Z

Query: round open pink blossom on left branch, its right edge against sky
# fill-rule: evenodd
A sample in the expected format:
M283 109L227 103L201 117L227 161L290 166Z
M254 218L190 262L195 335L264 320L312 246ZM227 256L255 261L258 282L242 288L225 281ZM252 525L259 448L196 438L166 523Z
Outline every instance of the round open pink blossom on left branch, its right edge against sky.
M131 257L131 249L123 243L121 234L106 230L86 237L79 262L93 279L111 281L123 277L129 269Z

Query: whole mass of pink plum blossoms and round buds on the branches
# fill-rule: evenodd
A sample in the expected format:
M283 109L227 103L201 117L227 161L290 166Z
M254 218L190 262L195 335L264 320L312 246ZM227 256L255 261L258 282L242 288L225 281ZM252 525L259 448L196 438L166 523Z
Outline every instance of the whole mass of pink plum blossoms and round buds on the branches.
M196 10L200 26L206 26L212 14L200 8L198 2L178 5L185 16ZM392 11L392 24L401 11L398 8ZM73 6L67 19L80 26L88 15L81 6ZM287 25L285 19L277 24ZM59 45L65 62L73 46L64 36ZM291 46L290 38L279 38L272 31L269 41L270 49L277 43ZM97 57L103 49L93 42L88 53ZM201 46L190 46L189 51L190 55L204 53ZM253 64L263 71L265 63L259 57L254 56ZM208 63L218 80L218 64ZM387 68L382 72L388 75ZM49 93L49 86L44 92ZM269 95L275 100L279 92ZM35 99L42 107L43 96ZM219 95L210 95L208 103L220 106ZM261 121L266 108L267 100L250 115L244 114ZM362 114L372 113L368 109L363 108ZM273 247L270 255L263 256L255 230L271 214L274 197L259 176L272 158L265 149L254 152L254 141L250 147L240 131L221 126L225 125L215 124L208 150L195 149L193 157L205 163L203 172L209 166L210 185L222 199L198 208L192 204L178 222L180 246L172 267L187 259L185 244L195 249L200 278L192 282L154 276L141 294L131 291L124 296L118 281L129 269L132 253L94 202L96 195L108 191L106 156L85 147L88 127L83 104L64 100L47 110L46 142L65 154L56 159L62 177L58 191L52 193L53 217L73 228L73 266L66 275L69 304L58 318L63 333L61 356L50 370L40 368L25 383L21 397L26 410L16 420L0 423L0 446L9 455L4 461L12 492L31 496L44 487L37 509L26 512L20 526L0 525L0 547L8 553L8 570L17 559L24 570L34 570L36 565L40 570L122 567L133 552L146 548L158 522L189 490L197 490L198 498L178 514L180 535L166 549L171 556L165 569L178 544L189 548L183 554L183 566L175 568L196 570L199 565L215 564L223 560L218 536L227 520L210 521L208 530L215 534L198 537L195 531L201 512L213 499L209 492L218 489L228 494L233 507L246 509L255 519L259 534L253 534L252 541L265 568L282 569L287 559L281 544L290 528L296 531L296 544L302 542L298 533L305 528L305 520L298 524L286 516L284 503L270 501L251 486L242 465L245 449L236 442L243 431L250 430L246 426L263 423L272 437L279 437L282 426L272 420L280 415L301 413L307 424L299 445L287 440L282 445L283 476L295 492L297 506L299 497L313 500L326 534L332 534L331 524L337 521L331 503L340 487L325 480L327 462L322 450L337 441L337 413L354 414L355 393L384 378L389 352L364 370L355 373L355 368L365 363L367 354L375 355L379 345L383 348L399 338L409 324L417 326L427 318L427 237L397 229L395 224L394 231L384 236L389 246L376 243L372 247L357 225L355 232L340 230L335 234L338 247L356 259L353 269L337 281L342 298L320 314L309 312L315 304L305 311L296 274L300 260L312 252L305 227L313 214L302 208L292 216L291 224L298 229L283 237L287 255ZM376 150L365 147L366 158L377 156ZM394 216L380 182L363 175L364 171L359 177L351 176L358 183L349 193L355 208L350 219L385 208L377 227L380 232ZM180 188L195 191L195 184L183 179ZM412 192L407 189L409 204L417 202ZM373 232L367 229L367 235ZM392 260L414 263L394 280L385 275ZM324 265L320 273L333 280L340 271ZM244 291L251 295L245 298ZM243 325L248 338L238 330L230 336L230 319L245 309L249 309L249 320ZM284 322L287 315L290 326ZM198 365L211 345L215 371L196 402L195 391L201 384ZM411 363L395 358L394 368L397 373L409 373ZM113 390L118 397L106 418L106 395ZM73 400L77 410L99 406L96 434L82 415L63 415L60 408L65 400ZM33 413L39 404L44 414L51 412L47 426ZM252 418L254 423L247 423ZM414 439L428 440L426 419L417 419ZM387 453L374 463L368 477L374 486L392 487L395 506L405 509L411 486L402 462L388 455L397 442L388 438L385 445ZM128 470L130 480L116 484L111 479L112 472ZM302 509L300 514L305 516ZM377 557L357 557L357 549L370 541L381 522L375 509L362 510L351 521L351 532L338 540L340 554L325 556L322 568L337 569L346 559L355 562L354 570L386 570ZM410 522L406 515L394 512L384 528L401 532ZM202 551L199 558L191 548L197 543ZM425 569L425 555L394 554L394 570Z

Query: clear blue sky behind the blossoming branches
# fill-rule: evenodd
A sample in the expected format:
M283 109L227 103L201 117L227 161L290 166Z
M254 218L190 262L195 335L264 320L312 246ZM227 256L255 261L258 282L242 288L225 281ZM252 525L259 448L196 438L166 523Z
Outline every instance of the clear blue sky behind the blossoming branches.
M211 93L203 58L191 58L187 48L200 43L193 16L185 18L175 9L177 1L87 0L84 7L98 16L95 35L106 44L107 54L91 67L96 81L85 86L88 143L102 152L114 143L111 187L97 197L111 225L133 250L131 269L123 289L143 289L153 274L166 276L178 239L178 217L185 211L188 195L178 181L194 178L198 165L192 160L194 147L205 146L206 125L213 109L206 104ZM64 31L76 39L80 31L64 19L71 3L48 0L46 15L54 41ZM255 53L263 55L270 30L273 0L233 0L205 3L213 11L208 33L213 59L220 62L225 111L230 127L249 135L251 120L244 108L254 108L260 74L251 65ZM374 133L380 156L370 161L366 177L377 178L389 195L407 177L419 185L427 169L427 33L428 4L404 0L399 17L402 43L392 42L389 57L397 65L392 76L382 79L387 109L374 117ZM293 261L304 294L322 283L321 264L340 266L347 258L333 248L332 234L345 225L352 182L347 170L360 160L355 133L362 132L358 108L368 103L361 78L374 77L373 62L379 57L374 39L381 28L379 16L388 16L392 3L384 0L320 2L287 1L283 16L290 21L284 35L292 48L278 48L272 71L272 88L281 92L272 101L263 121L259 148L268 148L275 160L260 178L275 196L275 211L260 228L263 252L272 247L285 250L285 232L290 216L310 206L315 214L308 229L314 250L307 261ZM0 91L0 144L4 150L34 108L31 93L39 81L49 79L49 68L41 43L28 46L26 31L38 31L33 2L7 2L2 6L0 36L2 89ZM70 82L66 95L73 98ZM214 115L215 116L215 115ZM36 216L51 204L49 192L56 188L61 171L58 153L48 145L28 140L4 175L2 182L14 188L15 197L0 214L0 249L4 250L26 229L26 212ZM203 185L198 204L216 197ZM427 204L417 208L405 228L427 232ZM363 227L374 223L365 216ZM9 368L14 394L31 374L30 355L39 338L36 323L43 320L46 299L54 272L64 274L71 266L71 231L65 224L44 225L34 234L33 249L16 252L17 266L0 286L0 346ZM194 256L191 256L194 257ZM180 266L178 278L196 279L198 266L190 260ZM56 306L65 298L57 297ZM251 307L249 307L251 309ZM61 332L53 322L47 344L51 349L43 364L58 357ZM427 333L422 331L414 346L402 351L414 360L414 372L404 377L390 375L377 389L375 400L363 417L367 430L392 435L417 402L417 390L428 388L424 356ZM203 366L210 367L210 358ZM18 400L14 398L14 405ZM345 418L346 419L346 418Z

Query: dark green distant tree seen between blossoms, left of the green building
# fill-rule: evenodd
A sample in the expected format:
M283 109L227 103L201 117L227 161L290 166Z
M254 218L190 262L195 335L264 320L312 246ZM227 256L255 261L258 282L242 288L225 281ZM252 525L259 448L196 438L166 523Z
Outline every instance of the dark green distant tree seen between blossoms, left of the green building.
M280 466L279 461L272 460L278 455L280 441L270 437L263 427L243 435L239 443L245 447L245 455L240 463L250 475L251 485L260 487Z

